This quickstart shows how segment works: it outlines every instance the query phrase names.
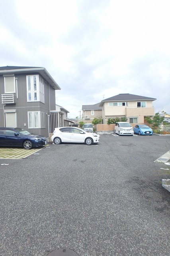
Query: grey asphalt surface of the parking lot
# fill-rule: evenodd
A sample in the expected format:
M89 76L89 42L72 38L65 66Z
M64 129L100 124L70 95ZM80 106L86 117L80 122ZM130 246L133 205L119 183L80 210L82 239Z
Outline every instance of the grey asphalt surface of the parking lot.
M170 136L104 134L0 159L0 255L170 255L169 150Z

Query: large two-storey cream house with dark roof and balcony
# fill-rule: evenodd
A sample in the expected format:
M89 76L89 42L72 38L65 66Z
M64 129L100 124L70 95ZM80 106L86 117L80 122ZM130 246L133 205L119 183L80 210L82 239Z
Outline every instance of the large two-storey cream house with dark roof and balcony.
M155 98L134 94L118 94L100 102L102 107L103 123L107 124L108 118L126 117L131 124L143 124L145 116L154 116L152 101Z

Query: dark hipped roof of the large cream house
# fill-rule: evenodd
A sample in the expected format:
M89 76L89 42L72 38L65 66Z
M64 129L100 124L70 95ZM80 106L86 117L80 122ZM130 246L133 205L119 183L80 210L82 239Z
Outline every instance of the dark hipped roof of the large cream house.
M115 95L113 97L107 98L105 100L102 100L100 102L100 106L103 106L104 102L109 102L109 101L128 101L128 100L156 100L155 98L150 98L150 97L145 97L145 96L140 96L140 95L135 95L135 94L129 94L129 93L122 93Z

